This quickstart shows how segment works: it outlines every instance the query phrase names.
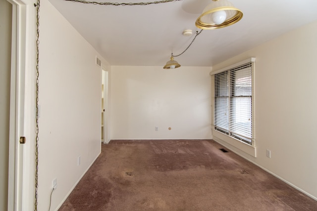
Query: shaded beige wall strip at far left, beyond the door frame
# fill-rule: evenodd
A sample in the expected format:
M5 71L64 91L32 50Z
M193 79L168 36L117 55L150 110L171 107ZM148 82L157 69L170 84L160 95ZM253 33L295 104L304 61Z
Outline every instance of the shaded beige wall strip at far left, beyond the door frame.
M0 0L0 210L7 210L12 5Z

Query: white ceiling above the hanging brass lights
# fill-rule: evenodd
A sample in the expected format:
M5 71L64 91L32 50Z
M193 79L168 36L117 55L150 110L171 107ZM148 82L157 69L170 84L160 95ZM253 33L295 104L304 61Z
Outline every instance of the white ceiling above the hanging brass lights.
M110 65L164 66L195 36L195 21L211 0L177 0L133 6L50 0ZM153 0L97 0L150 2ZM212 66L301 25L317 20L317 0L230 0L243 18L204 30L181 56L182 66ZM191 37L183 30L193 30Z

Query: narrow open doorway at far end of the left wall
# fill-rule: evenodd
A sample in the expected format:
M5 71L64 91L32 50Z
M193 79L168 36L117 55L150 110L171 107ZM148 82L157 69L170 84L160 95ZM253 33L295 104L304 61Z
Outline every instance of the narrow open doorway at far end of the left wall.
M108 71L102 68L102 96L101 96L101 141L105 144L108 140Z

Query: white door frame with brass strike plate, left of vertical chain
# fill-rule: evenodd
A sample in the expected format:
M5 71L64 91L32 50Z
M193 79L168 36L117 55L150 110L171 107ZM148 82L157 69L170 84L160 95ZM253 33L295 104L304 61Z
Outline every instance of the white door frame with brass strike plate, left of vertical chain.
M19 143L25 130L26 4L12 4L11 79L9 117L8 211L22 210L24 145Z

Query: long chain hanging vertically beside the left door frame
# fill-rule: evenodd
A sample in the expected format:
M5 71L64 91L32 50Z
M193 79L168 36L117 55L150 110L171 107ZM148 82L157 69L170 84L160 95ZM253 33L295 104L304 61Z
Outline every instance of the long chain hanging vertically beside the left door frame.
M39 54L40 54L40 0L34 4L36 7L36 139L35 139L35 202L34 211L38 210L39 189Z

